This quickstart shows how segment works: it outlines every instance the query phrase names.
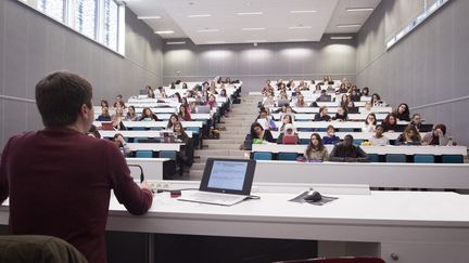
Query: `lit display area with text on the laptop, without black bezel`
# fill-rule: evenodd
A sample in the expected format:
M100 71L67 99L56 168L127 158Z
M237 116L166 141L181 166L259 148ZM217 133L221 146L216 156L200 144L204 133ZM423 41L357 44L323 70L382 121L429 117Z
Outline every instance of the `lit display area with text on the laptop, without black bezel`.
M214 161L208 187L242 190L248 162Z

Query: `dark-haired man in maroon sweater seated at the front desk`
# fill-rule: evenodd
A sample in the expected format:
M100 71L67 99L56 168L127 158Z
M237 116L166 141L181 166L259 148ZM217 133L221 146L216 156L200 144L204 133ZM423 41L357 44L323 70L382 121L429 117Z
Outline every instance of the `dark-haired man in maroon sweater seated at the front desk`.
M45 129L10 139L0 165L0 203L10 196L11 234L51 235L90 263L106 262L104 228L111 189L132 214L152 203L114 143L86 135L94 119L92 88L71 73L36 86Z

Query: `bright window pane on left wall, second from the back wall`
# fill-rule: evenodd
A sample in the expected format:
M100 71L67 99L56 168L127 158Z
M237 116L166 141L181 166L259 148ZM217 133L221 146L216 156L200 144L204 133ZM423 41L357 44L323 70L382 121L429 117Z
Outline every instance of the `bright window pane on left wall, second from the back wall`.
M75 2L75 29L83 35L97 38L97 0L76 0Z

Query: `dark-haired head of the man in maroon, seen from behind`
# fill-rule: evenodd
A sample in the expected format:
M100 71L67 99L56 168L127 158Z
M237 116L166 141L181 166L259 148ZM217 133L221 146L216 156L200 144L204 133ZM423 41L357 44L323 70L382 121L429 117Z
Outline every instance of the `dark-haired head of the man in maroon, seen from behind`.
M36 103L46 127L74 123L84 104L92 107L91 97L91 84L68 71L52 73L36 84Z

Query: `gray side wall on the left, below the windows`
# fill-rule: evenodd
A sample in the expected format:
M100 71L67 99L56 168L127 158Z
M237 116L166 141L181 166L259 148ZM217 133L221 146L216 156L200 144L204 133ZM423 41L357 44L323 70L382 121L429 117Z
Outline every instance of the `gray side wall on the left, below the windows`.
M36 83L60 69L88 79L96 104L162 83L162 40L128 9L125 57L16 0L0 1L0 95L34 98ZM41 127L36 104L0 98L0 149L11 135Z

